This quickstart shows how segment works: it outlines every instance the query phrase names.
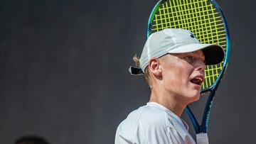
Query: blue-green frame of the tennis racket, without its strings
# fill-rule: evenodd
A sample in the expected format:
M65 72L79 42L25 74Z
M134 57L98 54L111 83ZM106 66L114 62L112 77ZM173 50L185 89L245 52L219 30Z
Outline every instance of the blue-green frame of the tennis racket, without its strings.
M168 0L160 0L154 6L153 11L151 11L151 14L149 16L148 26L147 26L147 29L146 29L146 32L147 32L146 33L146 38L148 38L149 35L151 35L150 27L151 27L151 23L152 23L152 20L154 18L154 15L155 15L157 9L165 1L168 1ZM196 131L196 134L198 134L198 133L207 133L208 121L209 121L209 118L210 118L210 109L211 109L211 107L213 105L213 98L215 96L216 89L218 88L218 86L220 84L220 81L223 78L225 70L228 67L228 62L230 60L230 46L231 45L230 45L230 33L229 33L229 30L228 30L228 24L227 24L227 22L225 20L225 16L223 14L223 11L220 9L220 6L218 5L218 3L216 1L214 1L214 0L208 0L208 1L210 1L211 4L213 4L213 6L215 6L215 8L218 9L218 11L221 14L221 17L222 17L223 23L224 23L224 27L225 27L225 32L226 32L226 41L227 41L226 44L227 44L227 46L226 46L226 50L225 50L225 60L224 60L224 64L223 64L223 69L221 70L218 79L216 79L215 83L211 87L201 91L201 94L206 93L206 92L210 92L210 95L208 96L208 100L206 102L205 110L203 112L203 118L202 118L202 121L201 121L201 125L198 124L198 121L196 120L196 117L194 116L191 108L189 106L186 106L186 112L188 113L189 118L191 118L191 122L193 123L193 127L194 127L194 129Z

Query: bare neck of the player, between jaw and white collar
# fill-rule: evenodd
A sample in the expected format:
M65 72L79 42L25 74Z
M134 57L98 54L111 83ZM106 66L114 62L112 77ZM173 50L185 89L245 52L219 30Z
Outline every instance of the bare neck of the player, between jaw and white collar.
M181 117L181 113L186 108L186 104L183 104L175 94L170 94L170 92L165 92L164 89L155 91L151 90L150 102L157 102L162 106L175 113L178 117Z

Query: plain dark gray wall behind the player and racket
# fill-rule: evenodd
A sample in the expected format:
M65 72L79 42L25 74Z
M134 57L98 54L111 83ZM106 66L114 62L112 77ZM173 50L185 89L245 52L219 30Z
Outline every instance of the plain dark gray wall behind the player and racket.
M210 116L210 143L256 143L256 2L218 3L233 49ZM154 4L1 0L0 143L27 134L53 144L114 143L118 124L149 99L144 79L127 69L140 55Z

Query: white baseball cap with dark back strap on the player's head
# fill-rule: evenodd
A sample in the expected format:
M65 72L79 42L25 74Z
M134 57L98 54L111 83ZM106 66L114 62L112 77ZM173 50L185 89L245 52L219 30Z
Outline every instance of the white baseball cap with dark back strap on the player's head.
M159 58L167 53L185 53L203 50L206 65L216 65L223 61L224 50L220 45L202 44L193 33L179 28L166 28L149 36L139 59L140 68L130 67L131 74L144 74L152 57Z

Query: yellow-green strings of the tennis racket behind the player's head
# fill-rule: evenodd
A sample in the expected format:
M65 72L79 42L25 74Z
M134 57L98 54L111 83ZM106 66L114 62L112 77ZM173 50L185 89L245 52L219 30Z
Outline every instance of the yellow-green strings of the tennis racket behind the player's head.
M207 0L164 1L151 22L151 33L164 28L183 28L191 31L201 43L215 43L226 50L226 32L223 19ZM223 63L208 65L203 89L211 87L223 69Z

